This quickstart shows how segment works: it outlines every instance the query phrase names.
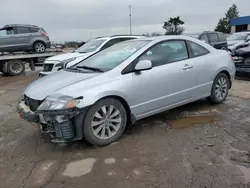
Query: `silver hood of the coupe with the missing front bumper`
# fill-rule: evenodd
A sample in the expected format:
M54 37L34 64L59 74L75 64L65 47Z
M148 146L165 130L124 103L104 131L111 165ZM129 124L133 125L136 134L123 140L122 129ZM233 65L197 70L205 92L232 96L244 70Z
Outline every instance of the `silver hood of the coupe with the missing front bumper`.
M58 71L31 83L25 89L24 94L35 100L44 100L48 95L59 89L100 74L101 73L77 73L64 70Z

